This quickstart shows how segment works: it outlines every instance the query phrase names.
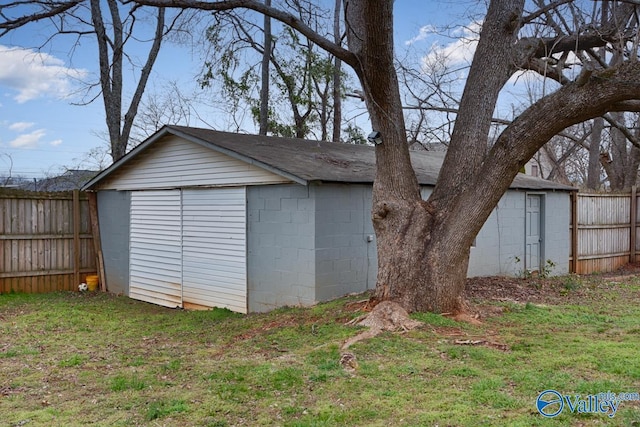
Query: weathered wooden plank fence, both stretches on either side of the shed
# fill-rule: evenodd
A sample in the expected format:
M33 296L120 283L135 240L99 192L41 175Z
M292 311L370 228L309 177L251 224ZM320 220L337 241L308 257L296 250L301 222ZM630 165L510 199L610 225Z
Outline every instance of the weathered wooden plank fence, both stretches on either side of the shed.
M571 272L638 261L635 187L626 194L573 193L571 201ZM95 202L95 194L79 191L0 189L0 294L76 290L96 272L104 290Z

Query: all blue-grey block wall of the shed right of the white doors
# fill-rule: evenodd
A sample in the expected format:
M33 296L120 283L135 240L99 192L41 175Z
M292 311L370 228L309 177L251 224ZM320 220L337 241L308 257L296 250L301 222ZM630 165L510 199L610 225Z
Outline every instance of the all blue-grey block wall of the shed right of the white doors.
M430 188L423 188L427 198ZM471 248L468 276L524 269L526 191L500 200ZM564 274L569 263L569 195L544 194L543 259ZM247 189L250 311L309 305L375 287L377 251L371 186L267 185ZM519 260L519 261L518 261Z

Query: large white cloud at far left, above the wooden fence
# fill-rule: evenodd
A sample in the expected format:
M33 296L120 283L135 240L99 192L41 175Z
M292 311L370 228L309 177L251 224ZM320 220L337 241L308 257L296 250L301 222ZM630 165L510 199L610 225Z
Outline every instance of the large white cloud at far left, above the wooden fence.
M87 75L86 70L65 67L47 53L19 47L0 45L0 63L0 85L17 91L14 99L19 103L41 96L69 96L72 80Z

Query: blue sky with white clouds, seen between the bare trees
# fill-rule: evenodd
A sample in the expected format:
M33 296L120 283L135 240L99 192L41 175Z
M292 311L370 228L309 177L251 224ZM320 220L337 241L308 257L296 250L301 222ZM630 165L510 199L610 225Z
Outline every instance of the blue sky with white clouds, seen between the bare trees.
M442 49L468 59L472 48L462 49L455 39L436 38L431 29L468 23L467 12L473 7L477 3L472 1L397 0L397 49L426 54L437 41ZM106 149L102 100L74 105L86 101L87 82L97 81L95 44L86 37L72 49L75 39L61 36L38 50L49 32L46 25L32 24L0 38L0 176L9 169L13 176L32 178L64 168L95 168L94 161L86 160L88 153ZM157 93L174 80L196 90L200 66L188 48L165 43L148 90ZM201 113L208 117L207 124L225 130L224 118L206 109L203 106ZM190 124L207 126L198 120Z

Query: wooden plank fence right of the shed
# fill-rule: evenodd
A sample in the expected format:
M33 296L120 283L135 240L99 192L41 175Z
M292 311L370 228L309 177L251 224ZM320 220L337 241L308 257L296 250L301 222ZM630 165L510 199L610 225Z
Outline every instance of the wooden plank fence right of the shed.
M614 271L636 262L638 197L625 194L574 194L571 220L571 271ZM575 226L577 224L577 226Z

